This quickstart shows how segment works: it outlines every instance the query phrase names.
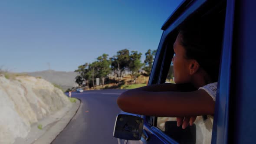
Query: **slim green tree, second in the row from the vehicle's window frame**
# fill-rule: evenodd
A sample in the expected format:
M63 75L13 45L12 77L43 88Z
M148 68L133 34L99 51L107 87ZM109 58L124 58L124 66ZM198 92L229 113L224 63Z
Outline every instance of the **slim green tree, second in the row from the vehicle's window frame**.
M130 54L130 62L128 64L128 68L131 71L131 78L134 82L136 82L137 77L139 76L139 69L143 65L141 63L141 55L142 53L138 53L137 51L131 51Z

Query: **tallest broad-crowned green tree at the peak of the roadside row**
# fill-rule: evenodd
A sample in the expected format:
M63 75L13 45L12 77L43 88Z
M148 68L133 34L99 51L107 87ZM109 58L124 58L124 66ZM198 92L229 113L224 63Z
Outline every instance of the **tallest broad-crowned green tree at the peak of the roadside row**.
M113 56L111 59L111 68L115 74L117 74L119 80L121 79L122 73L128 69L128 64L130 62L129 50L122 49L117 52L117 55Z

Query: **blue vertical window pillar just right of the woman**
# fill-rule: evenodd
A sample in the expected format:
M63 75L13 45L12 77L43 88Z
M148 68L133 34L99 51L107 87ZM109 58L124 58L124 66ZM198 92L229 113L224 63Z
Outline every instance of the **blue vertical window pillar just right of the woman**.
M235 0L227 0L223 47L221 54L222 57L219 72L220 76L218 79L215 115L213 119L212 144L228 143L234 12Z

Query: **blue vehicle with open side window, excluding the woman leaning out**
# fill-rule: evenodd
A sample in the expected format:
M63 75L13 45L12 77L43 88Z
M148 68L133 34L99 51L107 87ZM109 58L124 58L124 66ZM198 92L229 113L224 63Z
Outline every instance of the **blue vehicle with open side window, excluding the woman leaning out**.
M217 17L223 23L222 53L210 137L199 125L184 132L173 119L121 112L114 136L118 144L255 144L256 134L256 1L184 0L162 26L162 36L148 85L167 82L177 27L193 17ZM128 121L134 121L128 123ZM120 128L126 129L122 133ZM128 131L131 129L132 131ZM168 134L171 132L172 134ZM208 138L208 142L199 141Z

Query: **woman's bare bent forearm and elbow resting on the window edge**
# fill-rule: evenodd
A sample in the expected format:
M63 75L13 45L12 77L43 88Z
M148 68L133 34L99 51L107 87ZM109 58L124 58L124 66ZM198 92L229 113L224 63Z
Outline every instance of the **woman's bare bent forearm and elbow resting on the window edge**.
M161 88L163 85L166 87ZM177 88L175 84L162 84L123 92L118 97L118 106L125 112L159 117L214 114L215 102L204 90L170 92L167 91L167 85L174 89Z

